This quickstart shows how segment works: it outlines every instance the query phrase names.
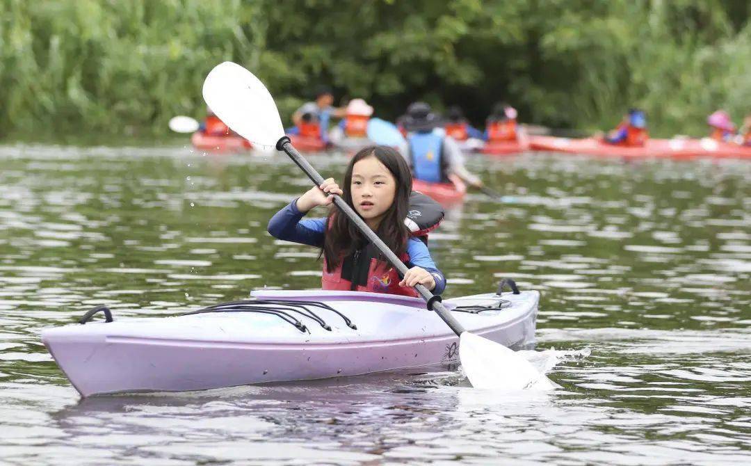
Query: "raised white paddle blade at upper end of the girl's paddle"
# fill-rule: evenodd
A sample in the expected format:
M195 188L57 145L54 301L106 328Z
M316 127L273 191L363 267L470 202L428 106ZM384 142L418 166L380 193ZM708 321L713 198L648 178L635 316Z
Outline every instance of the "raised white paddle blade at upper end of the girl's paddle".
M224 62L204 81L204 100L225 125L264 149L284 136L276 103L264 83L237 63Z

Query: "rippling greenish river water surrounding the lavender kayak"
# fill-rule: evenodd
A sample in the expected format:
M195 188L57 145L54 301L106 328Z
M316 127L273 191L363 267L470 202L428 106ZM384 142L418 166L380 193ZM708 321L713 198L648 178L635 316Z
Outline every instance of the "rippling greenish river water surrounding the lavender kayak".
M347 157L317 154L324 176ZM431 236L446 297L541 292L553 392L455 371L79 401L41 343L107 304L168 316L315 288L267 220L309 186L284 156L0 147L0 454L8 464L743 464L751 444L751 163L472 156ZM321 212L322 215L322 212ZM589 356L585 356L589 354Z

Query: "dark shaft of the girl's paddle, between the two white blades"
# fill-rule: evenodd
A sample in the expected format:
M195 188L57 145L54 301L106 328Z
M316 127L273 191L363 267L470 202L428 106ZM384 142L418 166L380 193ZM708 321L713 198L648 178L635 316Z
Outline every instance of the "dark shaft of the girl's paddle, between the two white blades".
M297 164L302 171L305 172L306 175L312 180L313 183L315 183L315 186L321 186L321 184L324 183L324 178L321 177L321 174L318 174L318 171L315 170L315 168L312 167L308 163L308 161L305 159L305 157L301 156L299 152L297 152L297 149L295 149L292 146L291 141L287 136L282 137L277 141L276 143L276 150L283 150L285 153L287 153L288 156L290 156L290 159L294 163ZM333 195L333 203L336 204L336 207L339 207L339 210L342 210L342 212L345 213L345 215L350 219L352 222L354 222L354 225L357 225L357 228L360 228L360 231L363 232L363 235L365 235L372 244L375 244L375 247L378 248L378 250L388 259L388 262L391 263L395 268L397 268L397 271L404 276L406 272L409 270L406 265L404 265L404 262L402 262L396 254L394 254L393 251L388 249L388 246L383 242L381 238L378 237L378 235L375 235L375 231L372 231L370 227L366 224L366 222L363 221L363 219L360 218L359 215L352 209L352 207L349 207L349 205L344 201L344 199L340 198L339 195ZM455 334L461 335L464 333L464 327L459 323L457 319L454 319L454 316L451 315L450 312L448 312L448 309L442 304L440 301L439 296L434 296L433 293L430 292L425 286L418 283L418 285L415 286L415 289L418 290L418 293L421 295L421 297L427 301L428 307L432 308L432 310L435 310L436 313L443 319L443 322L446 322L446 325L448 325L451 330L454 331Z

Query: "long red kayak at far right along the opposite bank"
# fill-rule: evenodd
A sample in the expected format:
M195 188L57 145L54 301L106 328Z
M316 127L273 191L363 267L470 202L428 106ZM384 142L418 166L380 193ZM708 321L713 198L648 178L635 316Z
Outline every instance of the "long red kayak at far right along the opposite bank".
M607 144L598 138L570 139L551 136L533 136L532 150L559 153L577 153L593 156L644 158L668 157L692 159L694 157L749 158L751 147L714 141L710 138L648 139L643 147L626 147Z

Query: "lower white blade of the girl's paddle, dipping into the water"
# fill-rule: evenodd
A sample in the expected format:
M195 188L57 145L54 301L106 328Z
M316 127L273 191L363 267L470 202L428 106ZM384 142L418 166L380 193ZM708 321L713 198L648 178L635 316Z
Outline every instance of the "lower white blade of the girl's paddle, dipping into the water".
M550 390L555 387L523 356L467 331L459 337L459 359L469 383L478 389Z

